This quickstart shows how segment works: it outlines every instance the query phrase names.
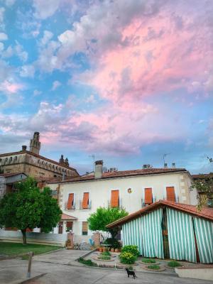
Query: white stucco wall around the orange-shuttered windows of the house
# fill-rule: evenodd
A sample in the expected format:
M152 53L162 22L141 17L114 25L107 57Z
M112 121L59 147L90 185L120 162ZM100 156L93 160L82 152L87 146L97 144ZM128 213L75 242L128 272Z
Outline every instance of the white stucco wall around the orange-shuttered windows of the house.
M58 184L49 184L48 186L55 190ZM141 199L144 188L152 187L153 197L155 201L158 201L166 198L166 187L168 186L175 187L175 195L180 203L191 204L190 175L182 172L61 183L59 204L63 213L77 217L77 221L73 222L75 239L88 241L92 237L92 231L88 231L88 236L82 236L82 222L87 221L89 215L95 212L98 207L108 206L111 200L111 190L119 190L120 205L127 212L133 213L142 208ZM132 190L131 193L128 192L129 188ZM84 192L89 192L91 209L80 209L80 201L82 201ZM75 209L66 209L70 193L74 193Z

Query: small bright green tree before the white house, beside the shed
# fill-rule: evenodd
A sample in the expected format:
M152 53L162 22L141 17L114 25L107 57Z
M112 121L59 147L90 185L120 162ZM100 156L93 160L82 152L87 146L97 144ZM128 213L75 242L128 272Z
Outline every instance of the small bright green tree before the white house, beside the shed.
M120 209L119 207L99 207L97 212L94 212L87 219L89 224L89 229L92 231L109 231L112 239L118 234L119 229L109 229L107 225L115 222L116 220L126 217L128 212L125 209Z

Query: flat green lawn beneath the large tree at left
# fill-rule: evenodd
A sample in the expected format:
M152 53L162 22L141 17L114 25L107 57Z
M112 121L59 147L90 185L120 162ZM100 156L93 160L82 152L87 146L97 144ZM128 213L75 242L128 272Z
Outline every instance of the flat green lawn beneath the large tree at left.
M62 249L61 246L45 246L42 244L18 244L18 243L4 243L0 242L0 254L5 256L18 256L29 251L33 251L34 256L40 253L48 253L48 251L55 251Z

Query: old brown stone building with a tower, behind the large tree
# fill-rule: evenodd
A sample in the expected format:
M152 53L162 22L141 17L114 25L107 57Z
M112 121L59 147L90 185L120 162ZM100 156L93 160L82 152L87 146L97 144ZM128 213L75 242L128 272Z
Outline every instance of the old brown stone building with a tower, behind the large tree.
M39 132L35 132L30 142L30 150L22 146L21 151L0 154L0 169L4 173L24 173L38 180L75 178L79 174L71 168L68 159L61 155L59 162L40 155Z

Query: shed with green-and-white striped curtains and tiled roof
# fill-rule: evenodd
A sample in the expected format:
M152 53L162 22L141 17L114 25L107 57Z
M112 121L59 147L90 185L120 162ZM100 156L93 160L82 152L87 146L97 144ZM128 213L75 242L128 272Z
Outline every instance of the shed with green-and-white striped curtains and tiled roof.
M116 226L142 256L213 263L213 208L160 200L107 225Z

